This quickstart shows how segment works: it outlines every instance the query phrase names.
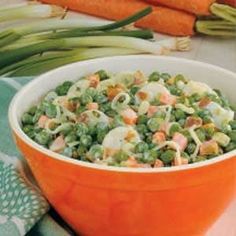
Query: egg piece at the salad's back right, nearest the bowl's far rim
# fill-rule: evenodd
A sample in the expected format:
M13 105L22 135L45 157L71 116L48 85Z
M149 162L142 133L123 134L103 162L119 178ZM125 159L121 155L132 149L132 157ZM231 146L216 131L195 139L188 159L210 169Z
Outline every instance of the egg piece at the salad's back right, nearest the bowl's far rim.
M183 92L187 96L191 96L194 93L203 95L204 93L216 94L207 84L190 80L184 87Z

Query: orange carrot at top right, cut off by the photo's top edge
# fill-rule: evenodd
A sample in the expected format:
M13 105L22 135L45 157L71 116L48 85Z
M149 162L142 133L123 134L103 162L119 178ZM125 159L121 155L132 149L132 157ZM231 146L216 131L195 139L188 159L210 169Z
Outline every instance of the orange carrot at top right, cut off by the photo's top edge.
M210 15L210 6L215 0L145 0L153 5L163 5L196 15Z

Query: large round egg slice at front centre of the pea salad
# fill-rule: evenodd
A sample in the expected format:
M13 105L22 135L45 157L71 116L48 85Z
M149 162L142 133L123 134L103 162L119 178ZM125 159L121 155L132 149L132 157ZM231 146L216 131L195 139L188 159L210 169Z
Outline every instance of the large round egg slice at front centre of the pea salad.
M121 126L112 129L103 140L103 147L109 150L120 150L127 143L138 143L141 139L131 126Z

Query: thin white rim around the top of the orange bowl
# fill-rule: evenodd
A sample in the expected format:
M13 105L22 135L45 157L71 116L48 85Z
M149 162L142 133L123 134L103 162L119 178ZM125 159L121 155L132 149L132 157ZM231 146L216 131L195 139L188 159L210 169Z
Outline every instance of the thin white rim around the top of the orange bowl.
M10 106L9 106L9 110L8 110L8 119L9 119L9 123L10 123L10 127L11 129L14 131L14 133L16 133L20 138L23 139L23 141L25 143L27 143L30 147L36 149L37 151L50 156L50 158L54 158L56 160L60 160L60 161L64 161L67 163L71 163L71 164L75 164L75 165L79 165L82 167L87 167L87 168L92 168L92 169L97 169L97 170L103 170L103 171L113 171L113 172L132 172L132 173L160 173L160 172L176 172L176 171L184 171L184 170L191 170L191 169L196 169L196 168L201 168L201 167L206 167L209 165L213 165L216 163L219 163L221 161L233 158L234 156L236 157L236 150L230 151L226 154L220 155L218 157L209 159L209 160L205 160L205 161L201 161L201 162L197 162L197 163L193 163L193 164L187 164L187 165L180 165L180 166L172 166L172 167L160 167L160 168L131 168L131 167L112 167L112 166L104 166L104 165L99 165L99 164L95 164L95 163L89 163L89 162L85 162L85 161L80 161L80 160L76 160L76 159L72 159L69 157L66 157L64 155L58 154L56 152L53 152L47 148L42 147L41 145L37 144L36 142L34 142L32 139L30 139L21 129L19 122L17 121L17 117L16 117L16 103L19 99L22 98L22 93L24 93L25 90L27 90L29 87L33 86L34 84L38 84L39 81L41 79L43 79L44 77L48 77L49 75L53 74L55 71L59 71L59 70L64 70L66 68L70 68L70 67L74 67L76 65L83 65L83 64L88 64L91 62L99 62L99 61L103 61L103 60L112 60L114 58L118 58L118 59L127 59L127 60L132 60L133 58L136 58L137 56L135 55L129 55L129 56L114 56L114 57L105 57L105 58L97 58L97 59L90 59L90 60L86 60L86 61L81 61L81 62L75 62L75 63L71 63L62 67L59 67L57 69L51 70L49 72L46 72L40 76L37 77L37 79L34 79L33 81L29 82L27 85L25 85L19 92L17 92L17 94L13 97ZM229 70L226 70L224 68L212 65L212 64L208 64L205 62L199 62L199 61L194 61L194 60L189 60L189 59L184 59L184 58L178 58L178 57L163 57L163 56L153 56L153 55L139 55L139 58L141 59L146 59L146 58L158 58L161 60L172 60L172 61L178 61L180 62L188 62L188 63L194 63L196 65L200 65L200 66L204 66L204 67L209 67L212 69L217 69L217 70L221 70L223 73L228 74L230 76L235 76L236 74L234 72L231 72Z

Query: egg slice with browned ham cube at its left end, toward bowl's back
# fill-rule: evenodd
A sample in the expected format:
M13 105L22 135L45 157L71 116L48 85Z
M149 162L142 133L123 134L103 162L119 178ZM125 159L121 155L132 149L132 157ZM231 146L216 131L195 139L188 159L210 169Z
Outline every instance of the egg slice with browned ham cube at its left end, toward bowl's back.
M158 82L151 82L143 86L135 95L138 101L152 101L161 94L170 94L169 90Z

